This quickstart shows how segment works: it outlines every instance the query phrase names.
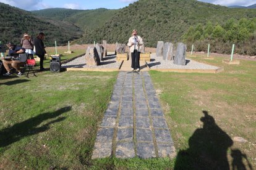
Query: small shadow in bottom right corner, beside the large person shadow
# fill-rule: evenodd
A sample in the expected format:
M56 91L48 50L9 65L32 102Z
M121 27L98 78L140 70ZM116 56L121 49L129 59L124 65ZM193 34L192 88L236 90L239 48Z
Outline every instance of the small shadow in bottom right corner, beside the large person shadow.
M247 164L249 166L249 168L252 170L252 164L250 164L249 160L247 159L247 156L242 153L240 150L235 149L235 150L231 150L231 156L233 158L232 161L232 169L241 169L241 170L245 170L245 165L242 162L243 158L245 158L245 160L247 161Z

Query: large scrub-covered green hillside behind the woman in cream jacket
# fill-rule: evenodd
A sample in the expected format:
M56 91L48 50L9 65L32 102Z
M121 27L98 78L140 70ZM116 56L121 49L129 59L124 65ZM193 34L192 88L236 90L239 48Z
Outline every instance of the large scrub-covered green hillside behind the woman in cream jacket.
M190 26L208 21L224 23L233 17L256 17L254 9L229 9L195 0L139 0L121 9L105 25L90 31L80 43L111 42L127 43L133 29L139 31L146 46L155 47L157 41L181 41Z

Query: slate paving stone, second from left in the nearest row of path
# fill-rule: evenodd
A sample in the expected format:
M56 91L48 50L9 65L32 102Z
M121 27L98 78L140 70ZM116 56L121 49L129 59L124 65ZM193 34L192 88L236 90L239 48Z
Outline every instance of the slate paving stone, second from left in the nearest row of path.
M117 158L134 158L134 142L119 143L116 146L116 157Z

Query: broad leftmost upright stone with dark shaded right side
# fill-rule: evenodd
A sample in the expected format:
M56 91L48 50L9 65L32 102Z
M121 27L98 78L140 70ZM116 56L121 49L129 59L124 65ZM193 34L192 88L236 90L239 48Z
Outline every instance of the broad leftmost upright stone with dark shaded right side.
M88 46L85 54L85 63L90 66L100 65L100 57L96 47Z

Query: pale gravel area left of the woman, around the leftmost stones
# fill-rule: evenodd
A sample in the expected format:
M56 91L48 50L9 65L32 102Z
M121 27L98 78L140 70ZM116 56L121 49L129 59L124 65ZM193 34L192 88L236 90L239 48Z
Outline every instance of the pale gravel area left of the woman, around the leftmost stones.
M121 62L116 61L116 55L109 55L98 66L89 66L85 63L85 55L61 65L63 68L119 68Z

